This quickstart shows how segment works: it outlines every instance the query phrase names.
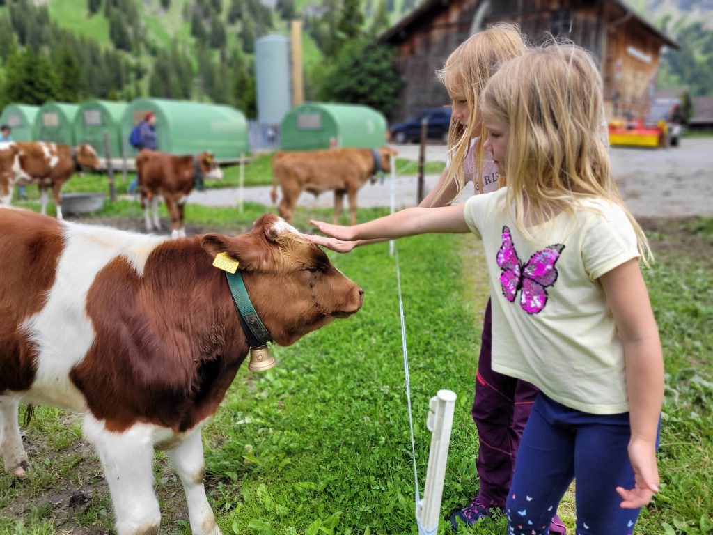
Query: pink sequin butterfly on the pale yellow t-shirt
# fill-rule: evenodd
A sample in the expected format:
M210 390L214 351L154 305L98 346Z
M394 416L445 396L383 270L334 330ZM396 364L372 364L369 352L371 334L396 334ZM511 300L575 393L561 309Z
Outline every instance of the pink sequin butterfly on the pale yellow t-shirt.
M515 251L513 237L507 226L503 227L503 246L498 249L498 267L503 271L500 282L505 298L513 302L518 290L520 307L528 314L537 314L547 302L546 287L552 286L557 280L555 262L560 258L564 245L550 245L537 251L523 266Z

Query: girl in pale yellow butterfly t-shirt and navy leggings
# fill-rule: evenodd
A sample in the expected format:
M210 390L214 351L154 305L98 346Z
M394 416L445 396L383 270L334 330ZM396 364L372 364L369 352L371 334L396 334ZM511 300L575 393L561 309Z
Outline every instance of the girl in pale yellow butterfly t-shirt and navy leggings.
M602 80L583 49L550 45L501 66L481 95L484 144L507 180L444 208L409 208L340 240L483 239L493 369L540 389L508 493L508 533L545 535L577 480L577 533L629 535L658 491L662 352L638 260L649 253L600 136Z

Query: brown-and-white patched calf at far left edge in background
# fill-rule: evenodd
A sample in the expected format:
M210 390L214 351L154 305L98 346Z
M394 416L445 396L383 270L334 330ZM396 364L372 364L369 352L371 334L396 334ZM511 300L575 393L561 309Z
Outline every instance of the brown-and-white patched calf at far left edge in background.
M62 186L76 171L99 170L101 163L88 143L74 148L44 141L0 143L0 205L9 205L15 184L36 183L41 212L47 213L47 189L52 189L57 219L62 218Z

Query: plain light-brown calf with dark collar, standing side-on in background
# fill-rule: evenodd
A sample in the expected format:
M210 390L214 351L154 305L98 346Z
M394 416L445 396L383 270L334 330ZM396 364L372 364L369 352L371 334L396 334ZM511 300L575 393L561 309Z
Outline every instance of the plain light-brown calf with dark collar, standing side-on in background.
M391 172L391 156L396 151L389 147L330 148L325 151L277 152L272 158L273 184L270 196L277 202L277 181L282 189L282 200L277 210L279 215L292 221L292 212L297 198L303 190L319 195L326 190L334 190L334 223L339 222L342 213L344 193L349 197L349 212L352 225L356 225L356 193L376 173Z

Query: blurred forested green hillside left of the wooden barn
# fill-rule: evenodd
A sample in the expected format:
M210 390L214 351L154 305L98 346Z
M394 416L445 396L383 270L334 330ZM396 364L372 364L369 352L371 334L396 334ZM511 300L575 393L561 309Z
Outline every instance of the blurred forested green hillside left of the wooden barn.
M307 98L336 98L329 65L344 66L345 49L362 54L413 6L414 0L277 0L272 7L260 0L0 0L0 106L148 95L227 103L254 117L255 39L287 34L299 14ZM389 51L367 54L389 66ZM364 103L388 113L393 98L369 94Z

